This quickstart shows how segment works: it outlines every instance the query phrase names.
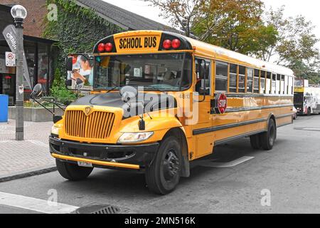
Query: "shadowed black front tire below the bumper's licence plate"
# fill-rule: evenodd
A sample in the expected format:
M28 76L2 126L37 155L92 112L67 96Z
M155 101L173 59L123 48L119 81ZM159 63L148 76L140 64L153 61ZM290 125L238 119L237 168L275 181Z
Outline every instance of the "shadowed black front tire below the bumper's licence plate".
M55 160L55 164L57 165L60 175L72 181L84 180L93 170L93 168L90 167L80 167L73 163L62 162L58 159Z

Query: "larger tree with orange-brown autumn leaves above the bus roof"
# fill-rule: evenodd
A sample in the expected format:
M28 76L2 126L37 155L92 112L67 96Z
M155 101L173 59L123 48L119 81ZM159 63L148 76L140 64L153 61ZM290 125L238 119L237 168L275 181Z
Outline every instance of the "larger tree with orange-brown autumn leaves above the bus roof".
M260 0L145 0L161 9L186 36L251 54L274 44L277 31L262 21Z

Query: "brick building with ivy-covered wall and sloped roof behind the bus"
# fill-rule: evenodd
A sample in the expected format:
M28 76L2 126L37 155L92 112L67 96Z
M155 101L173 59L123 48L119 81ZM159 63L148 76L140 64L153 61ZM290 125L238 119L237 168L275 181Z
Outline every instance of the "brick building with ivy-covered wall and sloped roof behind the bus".
M45 20L48 14L48 1L0 0L0 94L9 95L10 105L15 103L16 70L5 66L5 52L10 49L2 31L9 24L14 24L10 11L15 4L25 6L28 11L26 22L23 25L23 35L31 84L34 86L41 83L47 94L53 84L55 69L60 67L60 71L65 73L61 65L63 65L63 59L69 50L85 52L87 49L84 50L84 48L93 48L92 43L96 43L100 38L119 31L162 30L177 32L169 26L101 0L52 0L50 2L58 5L58 22L54 23L56 27L53 27L55 29L53 29L52 36L44 35L46 28L51 25ZM70 10L70 7L73 9ZM80 19L79 14L74 13L75 7L78 8L78 11L85 9L84 11L87 12L89 9L95 16L84 16ZM63 21L66 16L68 19ZM101 28L100 24L104 28ZM86 35L84 36L84 34ZM66 36L68 38L65 38ZM75 38L79 38L79 41L75 41ZM56 51L57 46L62 50ZM30 98L31 90L32 88L25 83L26 100Z

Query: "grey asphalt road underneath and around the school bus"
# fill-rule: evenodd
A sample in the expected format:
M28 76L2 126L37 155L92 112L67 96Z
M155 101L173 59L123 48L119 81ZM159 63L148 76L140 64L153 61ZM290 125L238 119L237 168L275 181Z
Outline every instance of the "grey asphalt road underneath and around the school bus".
M238 158L247 161L237 165ZM48 191L56 190L63 204L111 204L131 213L320 213L320 115L279 128L271 151L252 150L242 139L192 166L191 177L166 196L150 193L144 175L114 170L95 170L81 182L50 172L0 183L0 192L47 200ZM261 204L262 190L270 191L270 207ZM0 213L33 210L0 205Z

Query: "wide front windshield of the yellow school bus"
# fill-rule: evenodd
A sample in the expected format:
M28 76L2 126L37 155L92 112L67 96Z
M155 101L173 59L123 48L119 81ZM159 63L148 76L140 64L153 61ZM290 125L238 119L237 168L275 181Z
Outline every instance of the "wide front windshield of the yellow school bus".
M189 53L97 56L94 88L144 86L144 90L186 90L192 83L191 70Z

